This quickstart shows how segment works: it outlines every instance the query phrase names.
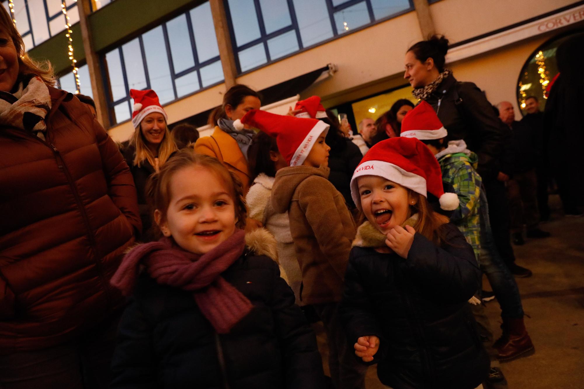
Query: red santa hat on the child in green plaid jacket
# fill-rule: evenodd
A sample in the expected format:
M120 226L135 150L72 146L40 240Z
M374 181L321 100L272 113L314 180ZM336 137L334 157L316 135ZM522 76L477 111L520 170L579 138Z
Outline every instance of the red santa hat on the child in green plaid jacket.
M427 102L422 100L406 113L399 136L420 140L442 139L448 135L446 128Z

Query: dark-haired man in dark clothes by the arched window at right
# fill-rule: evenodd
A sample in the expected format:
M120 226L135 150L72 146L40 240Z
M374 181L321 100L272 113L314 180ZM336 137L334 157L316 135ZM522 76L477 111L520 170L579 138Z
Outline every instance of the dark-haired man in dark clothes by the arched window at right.
M540 210L540 220L550 219L550 207L548 206L548 182L550 172L548 168L548 158L546 145L549 138L548 131L544 126L544 113L540 111L540 102L536 96L529 96L525 99L527 114L521 120L531 128L531 140L537 152L536 175L537 175L537 207Z

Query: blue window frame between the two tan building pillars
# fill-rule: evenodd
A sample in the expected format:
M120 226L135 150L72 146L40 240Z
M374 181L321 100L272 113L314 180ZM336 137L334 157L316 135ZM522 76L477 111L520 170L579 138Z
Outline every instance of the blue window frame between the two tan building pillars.
M200 5L202 5L202 4L200 4ZM194 7L194 8L196 8L196 7ZM123 53L122 47L124 46L124 44L128 43L129 41L132 41L134 39L138 39L138 43L140 44L140 54L142 55L142 66L144 67L144 75L145 75L145 79L146 79L146 88L144 88L144 89L151 89L150 72L148 71L148 63L146 61L146 55L145 55L145 51L144 51L144 41L142 40L142 36L145 33L148 33L151 30L154 30L159 26L162 27L162 37L164 38L164 44L165 44L165 49L166 49L166 58L168 60L168 67L169 67L169 71L170 71L169 77L171 78L172 92L174 94L174 98L172 100L170 100L169 102L164 103L163 106L171 104L173 102L176 102L177 100L192 96L195 93L199 93L201 91L204 91L205 89L213 88L213 86L223 84L223 82L225 82L225 75L222 72L223 78L220 81L214 82L213 84L210 84L207 86L203 86L203 80L201 79L201 69L206 67L207 65L211 65L217 61L221 61L221 57L220 57L220 55L216 55L215 57L209 58L208 60L205 60L203 62L199 62L199 53L197 51L196 42L194 39L193 24L192 24L192 20L190 17L190 12L194 8L191 8L191 9L187 10L186 12L183 12L179 15L175 15L171 19L165 20L160 25L152 27L150 30L148 30L144 33L141 33L140 35L138 35L137 38L133 38L133 39L130 39L128 41L124 41L124 43L121 43L118 47L107 51L107 53L111 53L114 50L118 50L118 54L120 56L120 62L121 62L121 74L122 74L122 77L124 80L124 89L126 91L126 97L124 97L124 98L117 99L117 100L113 101L112 89L110 88L110 81L109 81L109 71L107 69L107 62L106 62L106 54L107 53L103 53L102 55L99 55L100 70L102 71L103 82L105 84L104 85L106 88L105 90L107 91L107 96L106 96L106 98L107 98L107 111L108 111L110 123L112 123L112 126L117 126L121 123L126 123L126 121L131 120L131 114L133 112L131 104L130 104L130 101L132 100L132 98L130 97L130 86L128 85L128 77L127 77L126 65L124 62L124 53ZM166 23L170 22L171 20L173 20L175 18L178 18L181 15L186 15L186 24L187 24L187 30L189 31L189 35L190 35L189 38L190 38L191 50L193 53L194 65L190 68L187 68L187 69L182 70L178 73L175 73L174 63L172 60L171 42L170 42L169 37L168 37ZM197 79L199 80L199 89L197 89L196 91L193 91L192 93L188 93L187 95L178 97L178 93L176 90L176 79L183 77L184 75L190 74L194 71L197 72ZM144 90L144 89L142 89L142 90ZM130 110L130 119L123 120L123 121L117 121L116 117L115 117L114 107L121 104L121 103L124 103L124 102L127 102L127 104L128 104L128 109Z

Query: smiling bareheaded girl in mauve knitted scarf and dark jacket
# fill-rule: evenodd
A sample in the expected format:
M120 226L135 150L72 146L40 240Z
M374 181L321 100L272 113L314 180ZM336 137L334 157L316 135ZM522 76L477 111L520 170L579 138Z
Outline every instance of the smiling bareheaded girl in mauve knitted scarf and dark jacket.
M135 247L112 278L134 291L112 388L321 388L314 333L262 255L275 249L262 230L241 230L235 175L183 150L152 176L148 196L164 237Z

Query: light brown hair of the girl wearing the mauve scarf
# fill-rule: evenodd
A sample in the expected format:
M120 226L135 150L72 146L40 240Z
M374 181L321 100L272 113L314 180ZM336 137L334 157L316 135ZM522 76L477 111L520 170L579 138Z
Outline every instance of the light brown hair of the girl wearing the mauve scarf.
M192 148L183 148L160 169L148 178L146 184L146 197L152 210L158 210L161 213L161 220L166 219L166 211L171 203L171 179L172 176L180 169L189 166L201 166L216 173L227 186L231 199L235 204L235 217L237 228L245 228L245 220L248 217L248 206L245 203L244 189L241 181L235 173L229 171L225 166L214 157L204 154L195 154ZM193 178L196 179L196 178ZM154 223L156 225L156 223ZM161 236L158 228L157 237Z

